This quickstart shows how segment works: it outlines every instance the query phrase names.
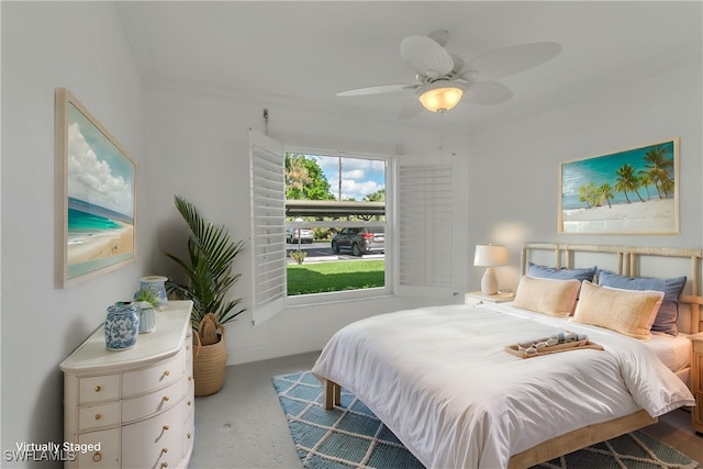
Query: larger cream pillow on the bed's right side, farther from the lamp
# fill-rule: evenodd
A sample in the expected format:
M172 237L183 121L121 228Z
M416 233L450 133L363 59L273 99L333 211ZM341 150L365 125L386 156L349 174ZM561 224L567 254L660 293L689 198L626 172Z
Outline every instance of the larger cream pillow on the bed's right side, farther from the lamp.
M662 300L661 291L622 290L599 287L584 280L573 321L605 327L639 339L649 339L651 324Z

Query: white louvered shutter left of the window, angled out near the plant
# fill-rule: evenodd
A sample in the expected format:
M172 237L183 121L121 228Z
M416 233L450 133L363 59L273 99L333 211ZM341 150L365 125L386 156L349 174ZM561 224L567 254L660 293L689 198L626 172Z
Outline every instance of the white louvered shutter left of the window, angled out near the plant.
M249 130L252 180L253 321L286 306L286 181L280 143Z

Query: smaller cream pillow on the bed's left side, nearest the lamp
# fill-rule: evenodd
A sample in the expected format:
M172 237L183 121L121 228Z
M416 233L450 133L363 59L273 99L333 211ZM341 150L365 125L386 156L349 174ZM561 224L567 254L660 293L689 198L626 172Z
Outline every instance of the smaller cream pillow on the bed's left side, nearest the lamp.
M524 276L520 279L513 306L566 317L571 315L581 282Z

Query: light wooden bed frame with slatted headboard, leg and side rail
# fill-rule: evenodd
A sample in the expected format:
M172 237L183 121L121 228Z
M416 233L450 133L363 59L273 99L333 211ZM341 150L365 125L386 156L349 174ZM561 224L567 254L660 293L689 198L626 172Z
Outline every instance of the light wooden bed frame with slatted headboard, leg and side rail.
M574 253L601 253L616 256L617 272L625 276L636 276L640 259L644 256L655 256L663 258L689 258L691 259L691 271L687 273L688 282L684 293L680 298L681 303L690 305L690 327L687 332L695 334L701 332L701 310L703 309L703 297L699 295L701 286L701 258L703 249L682 248L657 248L638 246L607 246L588 244L558 244L558 243L528 243L522 249L521 271L527 270L527 263L531 254L538 250L553 250L555 255L554 267L572 268ZM649 276L656 277L656 276ZM323 380L324 409L332 410L334 405L341 403L342 388L339 384ZM601 424L588 425L573 432L554 437L529 449L511 456L509 469L529 468L539 462L548 461L561 455L566 455L599 442L604 442L657 423L658 418L652 418L641 410L623 417L614 418Z

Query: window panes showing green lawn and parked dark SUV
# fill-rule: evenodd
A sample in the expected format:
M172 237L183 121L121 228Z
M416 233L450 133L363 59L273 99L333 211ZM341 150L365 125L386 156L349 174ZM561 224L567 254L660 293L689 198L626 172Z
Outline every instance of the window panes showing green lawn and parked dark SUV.
M288 297L306 295L293 302L311 302L335 292L390 293L387 160L290 152L284 161ZM310 298L317 294L323 298Z

